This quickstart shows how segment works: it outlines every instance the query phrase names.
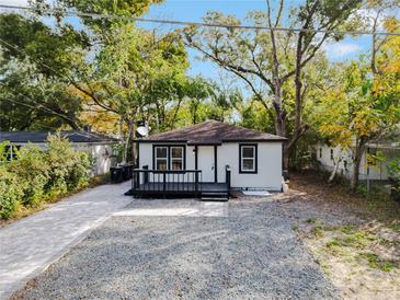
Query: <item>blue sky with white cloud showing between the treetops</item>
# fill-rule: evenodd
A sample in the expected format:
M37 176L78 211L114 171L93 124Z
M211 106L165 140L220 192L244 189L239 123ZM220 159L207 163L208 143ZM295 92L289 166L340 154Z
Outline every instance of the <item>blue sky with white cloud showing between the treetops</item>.
M272 3L277 1L272 0ZM300 0L287 0L286 4L296 5ZM2 4L27 5L27 0L0 0ZM266 10L265 0L165 0L163 3L152 5L144 18L151 19L171 19L178 21L201 22L207 11L220 11L225 14L233 14L237 18L243 19L250 11ZM52 25L50 20L46 23ZM72 23L78 24L72 20ZM151 25L141 23L144 27ZM159 26L159 25L158 25ZM167 30L173 28L172 26ZM163 28L165 30L165 27ZM357 57L362 53L366 53L370 48L370 37L361 36L357 38L346 37L339 43L329 43L323 46L328 58L331 61L344 61ZM202 74L206 78L217 79L220 74L220 69L212 62L205 62L196 59L198 54L195 50L188 49L191 59L191 69L188 74Z

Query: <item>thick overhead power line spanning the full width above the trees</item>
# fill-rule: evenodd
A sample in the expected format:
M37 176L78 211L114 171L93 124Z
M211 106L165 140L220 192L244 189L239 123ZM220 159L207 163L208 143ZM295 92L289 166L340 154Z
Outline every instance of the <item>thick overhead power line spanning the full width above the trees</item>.
M34 8L18 7L18 5L5 5L0 4L2 9L10 10L24 10L35 11ZM176 21L176 20L160 20L160 19L146 19L135 18L115 14L103 14L103 13L89 13L89 12L73 12L64 11L60 9L45 9L44 13L48 14L65 14L68 16L85 16L93 19L108 19L108 20L121 20L121 21L133 21L142 23L158 23L158 24L170 24L181 26L202 26L202 27L220 27L220 28L232 28L232 30L264 30L264 31L276 31L276 32L306 32L306 33L331 33L331 34L352 34L352 35L392 35L400 36L400 32L370 32L370 31L329 31L329 30L312 30L312 28L289 28L289 27L270 27L270 26L256 26L256 25L235 25L235 24L220 24L220 23L204 23L204 22L192 22L192 21Z

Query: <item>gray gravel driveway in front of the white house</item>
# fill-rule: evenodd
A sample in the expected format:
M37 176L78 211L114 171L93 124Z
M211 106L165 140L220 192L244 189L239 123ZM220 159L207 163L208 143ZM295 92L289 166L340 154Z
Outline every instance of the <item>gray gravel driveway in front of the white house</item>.
M220 215L185 215L182 208L193 211L201 203L135 200L128 217L107 220L14 297L339 298L293 231L284 206L247 198L220 204Z

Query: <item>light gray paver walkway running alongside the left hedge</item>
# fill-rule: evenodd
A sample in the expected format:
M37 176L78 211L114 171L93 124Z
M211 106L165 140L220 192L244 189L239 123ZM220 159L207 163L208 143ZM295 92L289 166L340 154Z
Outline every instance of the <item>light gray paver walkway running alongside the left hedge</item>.
M0 299L81 241L90 229L119 211L130 197L129 182L101 185L0 229Z

